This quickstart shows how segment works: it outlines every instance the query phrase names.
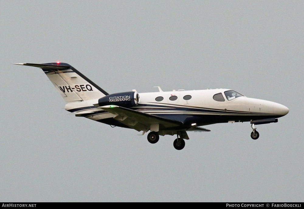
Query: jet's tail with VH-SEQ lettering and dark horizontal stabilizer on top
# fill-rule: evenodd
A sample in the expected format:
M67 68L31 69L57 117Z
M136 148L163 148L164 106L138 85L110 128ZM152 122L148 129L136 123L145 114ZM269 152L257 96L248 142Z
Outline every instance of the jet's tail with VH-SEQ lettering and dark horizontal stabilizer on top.
M67 63L13 64L41 68L67 103L97 99L109 95Z

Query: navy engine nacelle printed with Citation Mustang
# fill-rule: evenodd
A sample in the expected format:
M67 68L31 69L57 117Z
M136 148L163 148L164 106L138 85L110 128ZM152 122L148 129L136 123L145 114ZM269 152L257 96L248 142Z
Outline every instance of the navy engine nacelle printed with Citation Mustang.
M139 103L139 94L134 91L109 94L98 99L99 106L117 105L130 108Z

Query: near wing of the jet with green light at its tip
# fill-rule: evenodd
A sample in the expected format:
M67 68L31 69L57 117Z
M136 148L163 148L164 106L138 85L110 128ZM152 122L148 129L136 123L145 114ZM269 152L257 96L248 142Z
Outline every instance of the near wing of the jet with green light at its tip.
M151 131L157 132L159 128L183 125L183 122L181 121L170 120L116 105L101 106L99 108L117 115L114 117L115 120L137 131L147 131L150 129Z

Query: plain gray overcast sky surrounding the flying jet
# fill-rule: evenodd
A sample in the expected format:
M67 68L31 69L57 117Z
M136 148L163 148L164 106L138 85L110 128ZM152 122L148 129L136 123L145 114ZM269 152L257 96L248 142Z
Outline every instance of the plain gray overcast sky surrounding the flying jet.
M2 1L0 201L304 201L303 1ZM150 144L66 115L41 69L108 93L228 88L290 109Z

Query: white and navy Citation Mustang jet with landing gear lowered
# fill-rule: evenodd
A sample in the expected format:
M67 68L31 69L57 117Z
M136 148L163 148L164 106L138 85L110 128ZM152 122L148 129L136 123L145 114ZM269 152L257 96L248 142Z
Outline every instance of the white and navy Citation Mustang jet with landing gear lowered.
M75 116L101 123L142 131L150 130L148 141L157 143L159 135L177 135L173 146L185 147L187 131L204 132L199 127L214 123L250 121L252 139L259 133L254 125L276 123L287 107L243 96L230 89L207 89L109 94L67 63L13 63L39 67L67 102L65 110Z

